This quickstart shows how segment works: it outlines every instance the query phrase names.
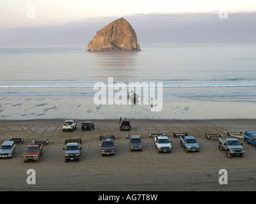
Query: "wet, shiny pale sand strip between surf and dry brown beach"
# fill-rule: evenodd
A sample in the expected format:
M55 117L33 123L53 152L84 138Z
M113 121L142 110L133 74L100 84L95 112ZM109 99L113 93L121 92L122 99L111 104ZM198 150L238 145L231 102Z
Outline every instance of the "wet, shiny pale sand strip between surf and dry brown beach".
M255 119L256 98L163 98L154 112L143 103L96 105L93 96L1 96L0 120L31 119ZM129 101L128 101L129 102ZM127 102L127 104L128 104ZM157 106L157 105L156 105Z

